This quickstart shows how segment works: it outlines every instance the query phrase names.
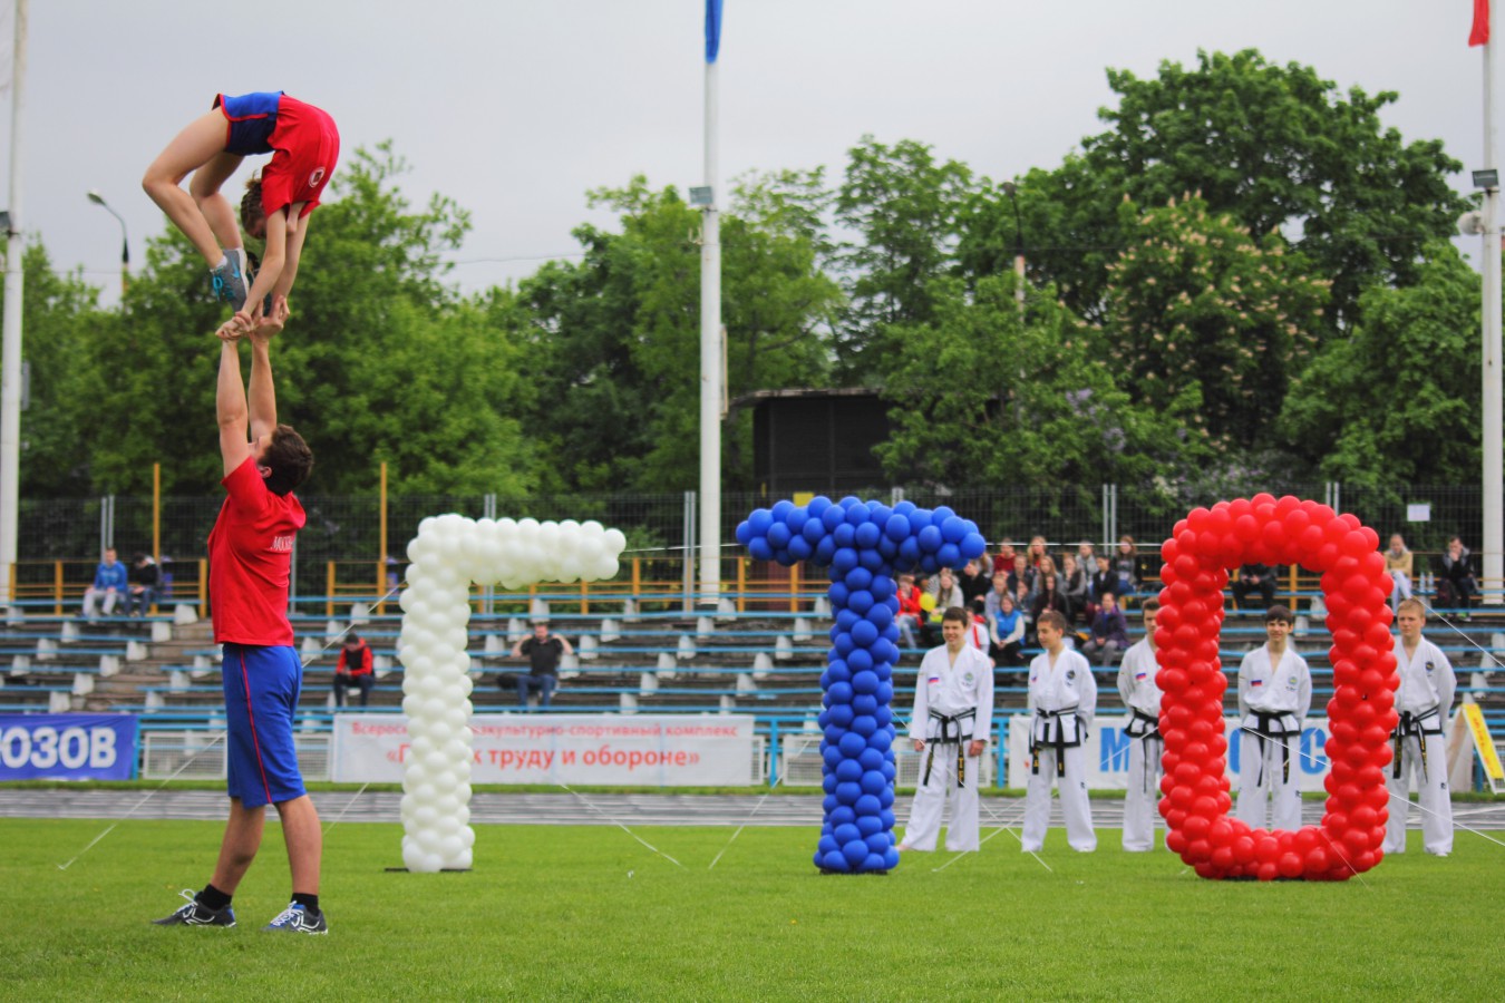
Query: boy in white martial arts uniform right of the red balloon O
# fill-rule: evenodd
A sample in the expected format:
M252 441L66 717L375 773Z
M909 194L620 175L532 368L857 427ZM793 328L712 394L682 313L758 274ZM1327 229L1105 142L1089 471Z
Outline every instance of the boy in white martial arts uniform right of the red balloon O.
M1448 752L1442 729L1452 708L1458 680L1442 648L1421 636L1425 608L1415 598L1395 611L1401 642L1395 645L1395 668L1401 686L1395 690L1400 723L1391 734L1395 765L1391 789L1391 820L1385 826L1385 853L1406 851L1406 815L1410 811L1410 780L1416 777L1421 803L1422 848L1437 857L1452 853L1452 801L1448 795Z

